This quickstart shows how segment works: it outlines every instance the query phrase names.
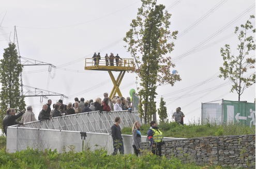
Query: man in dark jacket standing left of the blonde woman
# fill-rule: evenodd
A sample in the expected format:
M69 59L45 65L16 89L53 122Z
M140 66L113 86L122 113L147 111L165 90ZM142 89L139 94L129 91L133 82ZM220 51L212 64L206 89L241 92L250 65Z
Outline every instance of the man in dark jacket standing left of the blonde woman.
M113 139L113 147L114 147L114 152L112 155L116 155L117 151L119 150L120 154L124 154L124 142L122 138L122 132L121 132L121 118L120 117L115 117L115 124L111 127L111 136Z

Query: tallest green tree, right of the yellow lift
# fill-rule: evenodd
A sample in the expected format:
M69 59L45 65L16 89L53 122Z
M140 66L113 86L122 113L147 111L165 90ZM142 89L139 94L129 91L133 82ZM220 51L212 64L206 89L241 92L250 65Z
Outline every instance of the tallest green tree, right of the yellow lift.
M177 31L170 31L171 14L164 10L165 6L157 5L156 0L142 0L137 18L133 19L130 30L124 41L128 43L127 50L135 60L134 72L141 79L141 90L144 111L141 113L144 123L152 120L156 113L156 89L158 85L174 85L181 80L178 74L172 74L175 67L171 57Z

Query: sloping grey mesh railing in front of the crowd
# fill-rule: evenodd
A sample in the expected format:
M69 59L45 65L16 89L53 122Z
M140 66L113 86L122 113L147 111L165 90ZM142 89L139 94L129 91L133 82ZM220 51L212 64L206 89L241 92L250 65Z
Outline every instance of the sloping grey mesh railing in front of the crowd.
M140 120L138 115L129 111L93 111L54 117L51 120L29 122L19 127L111 133L111 126L114 124L114 119L117 116L121 117L121 128L131 127L135 121Z

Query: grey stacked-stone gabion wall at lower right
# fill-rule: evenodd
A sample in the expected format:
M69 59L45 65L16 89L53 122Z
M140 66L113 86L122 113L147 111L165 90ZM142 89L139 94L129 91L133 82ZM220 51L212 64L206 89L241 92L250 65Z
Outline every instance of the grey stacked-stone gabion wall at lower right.
M150 150L149 144L142 143L142 149ZM165 141L162 155L184 163L255 168L255 135Z

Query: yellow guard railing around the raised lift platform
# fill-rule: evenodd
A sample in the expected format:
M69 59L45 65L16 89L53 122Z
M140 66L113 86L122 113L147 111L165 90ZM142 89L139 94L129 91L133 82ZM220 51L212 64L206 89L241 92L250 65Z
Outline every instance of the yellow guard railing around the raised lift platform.
M121 58L119 60L109 59L105 60L105 58L85 58L85 67L86 66L121 66L121 67L133 67L134 62L133 59Z

